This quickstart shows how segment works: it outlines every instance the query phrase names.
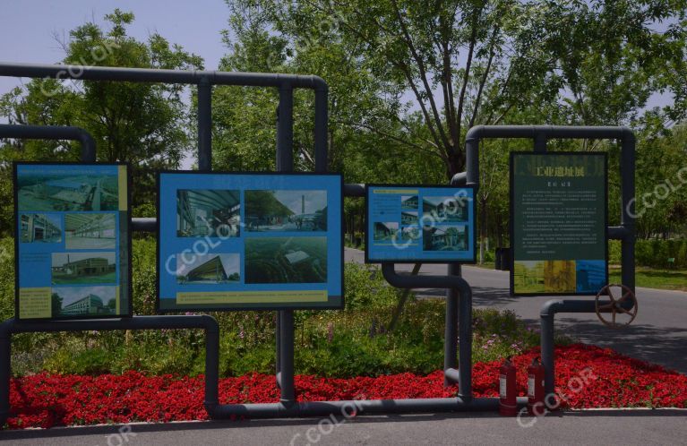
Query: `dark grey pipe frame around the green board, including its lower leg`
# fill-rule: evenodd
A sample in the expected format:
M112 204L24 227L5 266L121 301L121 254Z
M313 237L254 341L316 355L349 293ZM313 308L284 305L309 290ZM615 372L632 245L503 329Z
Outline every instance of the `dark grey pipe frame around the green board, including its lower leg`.
M466 184L479 187L479 142L484 138L528 138L534 141L534 150L546 151L549 139L614 139L621 142L621 225L607 227L608 239L621 240L621 266L623 285L635 291L634 280L634 173L635 173L635 136L628 127L609 126L561 126L561 125L477 125L466 135L467 176ZM462 174L453 177L455 182L462 181ZM545 391L552 393L555 388L554 369L554 317L556 313L596 313L593 301L550 300L540 312L542 364L545 367Z

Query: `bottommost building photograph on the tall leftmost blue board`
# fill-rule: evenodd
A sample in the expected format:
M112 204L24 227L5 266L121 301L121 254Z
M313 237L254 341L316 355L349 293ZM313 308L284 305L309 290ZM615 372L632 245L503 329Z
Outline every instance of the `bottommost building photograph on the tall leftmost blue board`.
M116 314L116 287L54 287L52 313L57 317Z

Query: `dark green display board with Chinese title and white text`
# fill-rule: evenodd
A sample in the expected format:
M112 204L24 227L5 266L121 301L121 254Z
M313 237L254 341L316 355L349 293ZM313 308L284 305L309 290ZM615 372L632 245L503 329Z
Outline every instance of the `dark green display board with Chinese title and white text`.
M605 153L511 153L511 295L608 283Z

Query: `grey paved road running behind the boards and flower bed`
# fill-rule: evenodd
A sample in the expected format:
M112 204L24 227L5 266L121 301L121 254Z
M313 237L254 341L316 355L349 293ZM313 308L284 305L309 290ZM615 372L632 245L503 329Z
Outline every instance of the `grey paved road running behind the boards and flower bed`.
M364 262L362 251L346 249L347 262ZM399 265L398 270L411 270ZM445 274L446 266L423 265L420 274ZM539 323L539 310L550 296L509 294L507 271L463 267L463 277L473 289L476 306L510 309L532 324ZM444 296L443 289L419 290L421 296ZM592 299L593 296L556 297ZM687 293L652 288L637 288L639 313L630 327L613 330L598 321L596 314L562 313L556 315L556 328L583 342L615 350L645 361L666 365L687 373Z

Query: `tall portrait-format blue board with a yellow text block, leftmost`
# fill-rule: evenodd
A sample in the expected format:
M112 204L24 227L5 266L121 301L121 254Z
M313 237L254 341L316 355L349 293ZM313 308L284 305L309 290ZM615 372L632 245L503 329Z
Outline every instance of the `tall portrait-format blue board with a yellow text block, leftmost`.
M18 319L131 315L127 172L124 164L14 164Z

